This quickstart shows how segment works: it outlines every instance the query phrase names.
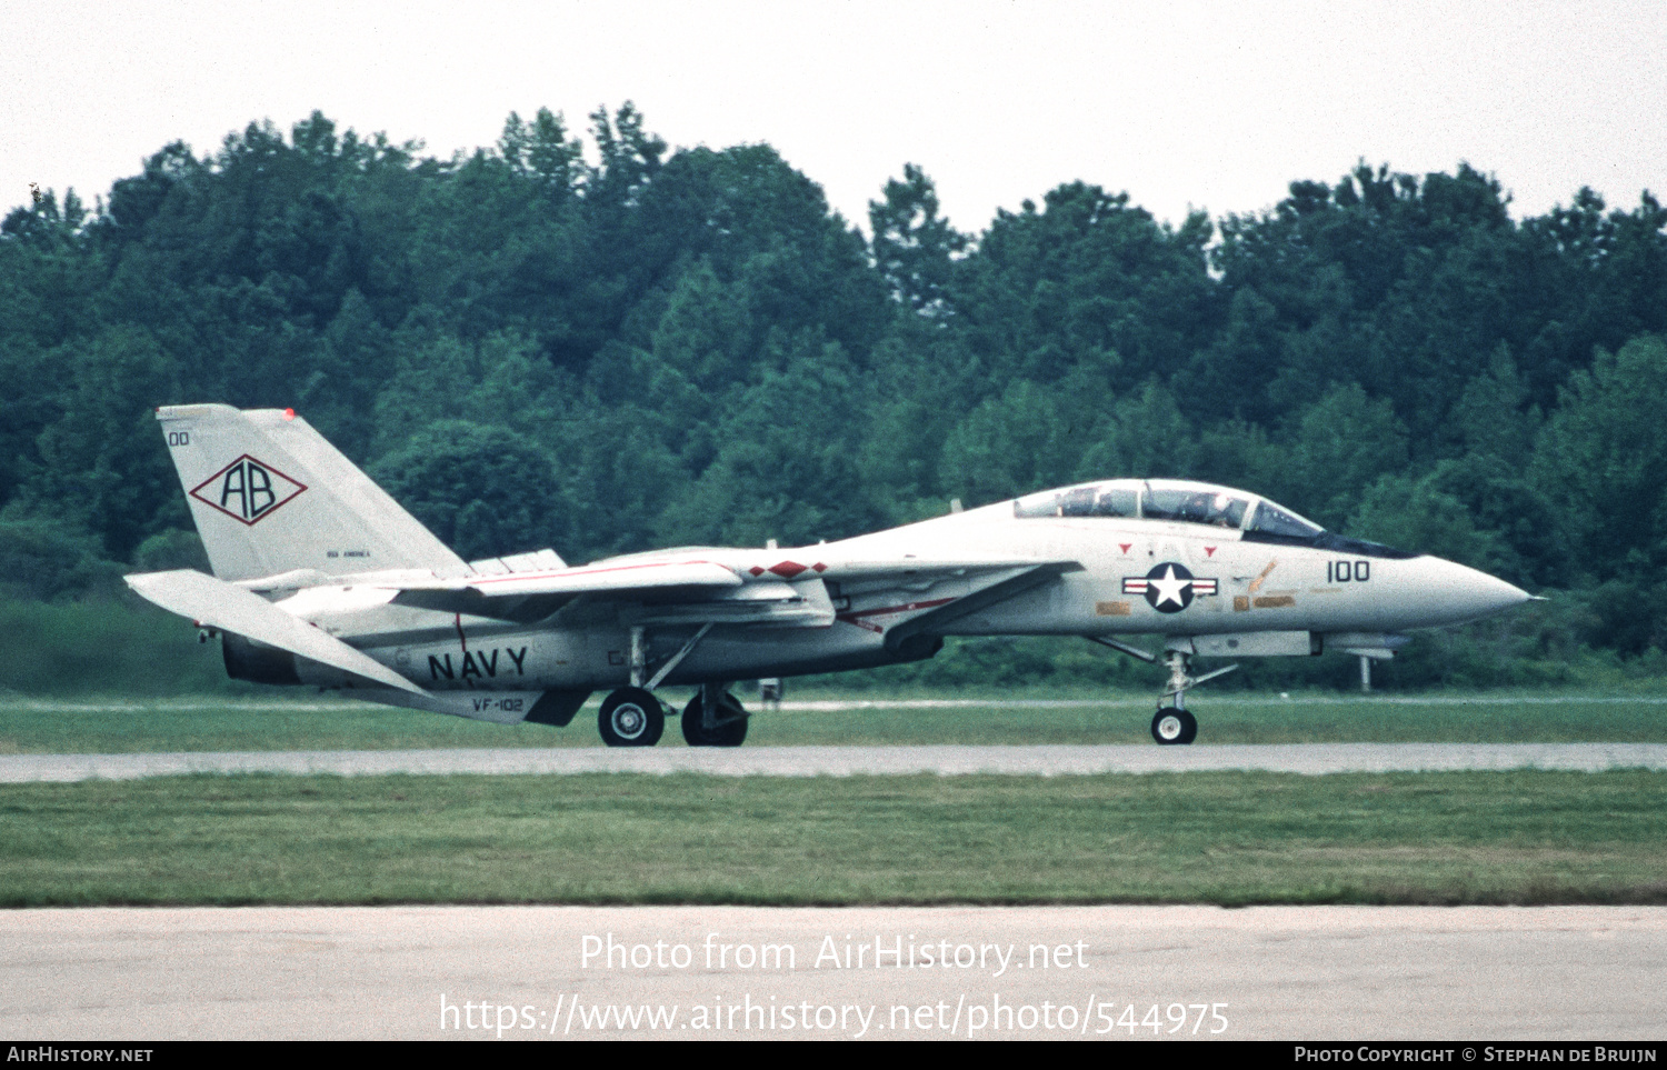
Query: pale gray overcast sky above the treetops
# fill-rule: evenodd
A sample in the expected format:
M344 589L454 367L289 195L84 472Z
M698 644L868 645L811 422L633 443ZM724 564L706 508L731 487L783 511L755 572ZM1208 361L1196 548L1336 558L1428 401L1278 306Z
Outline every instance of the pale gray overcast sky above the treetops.
M87 3L0 0L0 210L92 203L250 120L492 145L510 110L633 100L672 145L768 142L867 223L905 162L982 230L1075 178L1160 218L1270 207L1355 160L1492 172L1519 215L1667 182L1667 5Z

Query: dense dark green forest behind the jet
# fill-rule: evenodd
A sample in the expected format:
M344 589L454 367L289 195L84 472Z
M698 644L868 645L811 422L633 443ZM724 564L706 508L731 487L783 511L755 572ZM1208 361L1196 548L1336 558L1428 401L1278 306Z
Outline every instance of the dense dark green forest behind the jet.
M0 577L197 560L152 408L295 407L465 558L839 538L1170 475L1554 593L1529 658L1667 648L1667 210L1512 218L1359 163L1180 225L1072 182L869 235L768 145L623 105L438 160L320 113L0 223ZM1497 635L1495 635L1497 640ZM1489 640L1489 642L1495 642ZM1437 673L1440 675L1440 673Z

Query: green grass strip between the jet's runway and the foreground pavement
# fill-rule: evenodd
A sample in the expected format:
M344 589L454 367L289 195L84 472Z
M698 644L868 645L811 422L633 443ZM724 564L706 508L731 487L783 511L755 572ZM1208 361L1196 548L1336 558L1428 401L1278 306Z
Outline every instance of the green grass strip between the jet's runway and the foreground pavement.
M1662 903L1667 773L0 787L0 903Z

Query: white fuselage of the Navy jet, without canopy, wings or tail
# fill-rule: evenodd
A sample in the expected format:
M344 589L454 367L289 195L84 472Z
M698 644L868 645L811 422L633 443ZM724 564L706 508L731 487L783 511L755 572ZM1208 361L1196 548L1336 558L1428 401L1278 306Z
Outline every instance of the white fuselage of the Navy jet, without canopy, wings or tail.
M1005 515L1004 515L1005 512ZM1045 582L984 608L932 620L914 643L887 642L912 620L977 597L980 578L942 570L840 580L842 563L937 562L944 548L969 560L1072 562ZM875 535L790 550L702 548L650 555L713 562L748 582L820 583L834 607L827 627L718 625L663 683L800 675L929 657L949 635L1287 635L1279 653L1319 652L1324 637L1372 645L1410 628L1460 623L1525 598L1509 583L1429 555L1385 557L1255 542L1239 530L1182 522L1012 515L1012 503ZM632 558L643 560L643 558ZM1014 567L1019 570L1019 565ZM363 585L358 590L365 590ZM352 588L335 588L342 598ZM630 680L633 620L657 620L653 602L587 613L563 607L535 625L388 603L332 610L332 590L305 592L315 623L428 690L622 687ZM647 663L675 653L693 623L648 623ZM1299 638L1299 633L1307 633ZM1317 642L1312 642L1314 637ZM1265 645L1265 643L1264 643ZM1209 647L1205 643L1205 647ZM1254 643L1199 653L1255 653ZM1300 650L1299 650L1300 648ZM310 673L315 683L333 670ZM337 673L338 675L338 673Z

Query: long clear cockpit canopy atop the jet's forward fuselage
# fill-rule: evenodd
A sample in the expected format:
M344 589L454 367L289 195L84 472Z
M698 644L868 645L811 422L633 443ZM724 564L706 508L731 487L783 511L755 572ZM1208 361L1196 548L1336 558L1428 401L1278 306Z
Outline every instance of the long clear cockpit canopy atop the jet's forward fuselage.
M1372 557L1417 557L1389 547L1332 535L1267 498L1230 487L1190 480L1105 480L1044 490L1014 502L1015 517L1125 517L1232 528L1245 542L1345 550Z

